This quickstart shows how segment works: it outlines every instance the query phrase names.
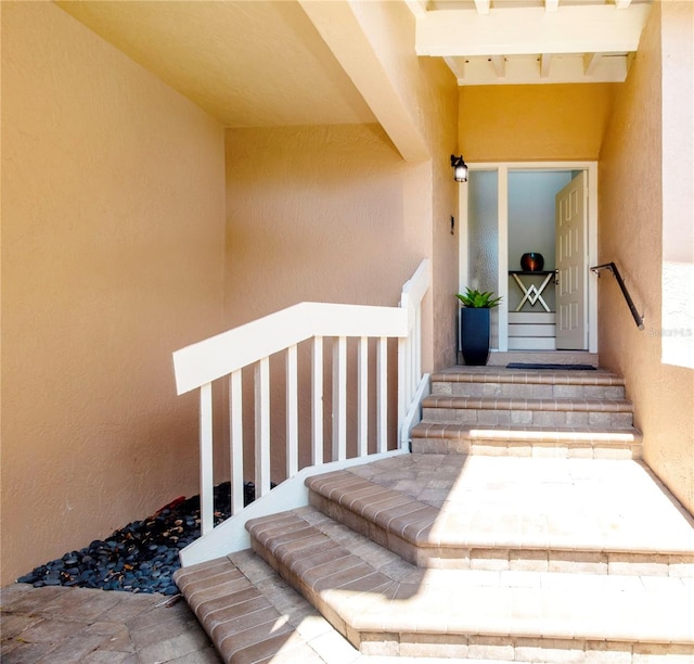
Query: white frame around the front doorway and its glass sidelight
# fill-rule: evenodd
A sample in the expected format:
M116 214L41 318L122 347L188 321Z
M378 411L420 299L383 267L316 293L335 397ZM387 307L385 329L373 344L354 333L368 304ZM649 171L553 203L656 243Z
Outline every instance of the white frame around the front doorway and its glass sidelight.
M586 170L588 174L588 228L587 239L587 265L597 264L597 162L567 161L567 162L470 162L470 170L496 170L498 174L498 209L499 209L499 247L509 246L509 171L510 170ZM459 292L463 292L467 285L467 184L459 186L458 216L461 220L459 234ZM499 252L498 267L499 295L503 302L509 299L509 252ZM589 353L597 353L597 283L595 279L586 279L587 288L587 320L586 334L588 335ZM499 307L499 335L498 347L493 350L505 352L509 349L509 309Z

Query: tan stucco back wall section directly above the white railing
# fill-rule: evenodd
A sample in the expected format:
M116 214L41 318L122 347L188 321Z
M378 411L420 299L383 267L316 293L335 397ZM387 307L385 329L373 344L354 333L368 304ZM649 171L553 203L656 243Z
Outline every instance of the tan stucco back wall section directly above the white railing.
M429 248L377 125L227 130L226 323L301 301L396 306Z

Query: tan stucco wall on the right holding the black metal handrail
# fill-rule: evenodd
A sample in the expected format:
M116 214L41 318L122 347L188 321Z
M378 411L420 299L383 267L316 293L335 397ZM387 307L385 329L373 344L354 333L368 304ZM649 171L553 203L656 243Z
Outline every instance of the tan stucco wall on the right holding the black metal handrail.
M671 67L664 53L691 52L692 33L681 29L687 21L692 26L691 3L654 3L601 153L600 263L617 264L644 314L645 330L637 329L616 282L606 276L599 282L599 333L601 363L627 380L646 463L694 512L694 371L660 361L667 334L660 315L663 183L681 167L678 146L691 145L694 131L691 117L678 127L677 140L663 131L670 122L668 108L686 103L692 93L691 59L680 62L679 81L670 71L664 85L661 67ZM685 41L678 46L680 39ZM683 208L689 213L683 224L691 225L692 201Z

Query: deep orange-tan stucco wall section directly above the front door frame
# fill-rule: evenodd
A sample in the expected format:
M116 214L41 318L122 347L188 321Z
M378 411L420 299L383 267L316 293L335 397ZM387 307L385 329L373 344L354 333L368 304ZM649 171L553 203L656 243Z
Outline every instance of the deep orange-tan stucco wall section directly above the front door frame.
M596 159L621 84L460 89L466 162Z

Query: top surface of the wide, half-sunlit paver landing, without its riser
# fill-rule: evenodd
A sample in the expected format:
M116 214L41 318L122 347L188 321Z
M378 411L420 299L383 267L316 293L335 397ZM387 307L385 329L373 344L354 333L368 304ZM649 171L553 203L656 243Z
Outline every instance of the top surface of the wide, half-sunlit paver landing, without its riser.
M428 456L316 475L306 484L312 495L420 548L694 556L694 520L635 461L435 456L426 484L438 489L421 491L411 467ZM440 457L446 463L437 467Z

